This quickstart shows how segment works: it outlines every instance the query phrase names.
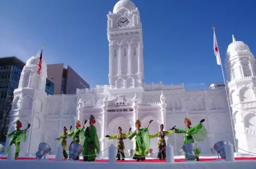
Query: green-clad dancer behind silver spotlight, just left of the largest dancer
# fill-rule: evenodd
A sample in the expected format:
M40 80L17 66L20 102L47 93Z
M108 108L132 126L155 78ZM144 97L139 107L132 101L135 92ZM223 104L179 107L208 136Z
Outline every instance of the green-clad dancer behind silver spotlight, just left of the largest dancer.
M69 157L70 157L70 148L73 143L80 143L81 145L83 144L83 141L85 139L84 138L84 128L85 128L86 122L87 122L87 120L85 120L84 125L82 125L82 127L81 127L80 121L78 120L75 123L75 129L73 131L71 131L72 126L70 126L70 128L69 128L68 137L72 137L72 142L68 148L69 149ZM79 160L79 155L75 160Z

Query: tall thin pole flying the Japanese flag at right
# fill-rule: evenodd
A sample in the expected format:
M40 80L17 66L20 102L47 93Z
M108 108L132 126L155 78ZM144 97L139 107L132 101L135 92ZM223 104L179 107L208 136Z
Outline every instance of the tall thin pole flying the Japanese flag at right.
M215 36L215 38L216 38L216 35L215 35L215 27L213 27L213 32L214 32L214 36ZM217 40L216 40L216 45L217 45L217 48L218 48L218 50L219 50L219 46L218 46L218 44L217 44ZM218 51L217 55L219 55L219 58L220 58L220 66L221 66L222 76L223 76L224 85L225 85L225 90L226 90L226 95L227 95L228 111L229 111L229 114L230 114L230 120L231 120L231 127L232 127L233 139L234 139L235 152L238 152L238 148L236 147L236 143L235 143L235 133L234 133L233 120L232 120L232 113L231 113L230 104L229 104L229 99L228 99L228 90L227 90L227 87L226 87L226 80L225 80L225 75L224 75L224 71L223 71L223 67L222 67L222 62L221 62L221 57L220 57L220 50Z

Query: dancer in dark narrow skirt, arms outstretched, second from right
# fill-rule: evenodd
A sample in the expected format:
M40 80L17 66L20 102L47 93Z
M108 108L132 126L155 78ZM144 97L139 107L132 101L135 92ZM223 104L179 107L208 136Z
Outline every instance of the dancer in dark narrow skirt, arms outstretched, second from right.
M169 134L172 134L174 133L172 130L166 132L166 131L163 131L164 129L164 125L160 125L160 131L159 132L156 132L155 134L152 134L152 135L149 135L150 139L152 138L156 138L158 137L158 155L157 155L157 158L159 158L159 160L164 160L166 158L166 142L165 142L165 139L164 137L166 135L169 135Z

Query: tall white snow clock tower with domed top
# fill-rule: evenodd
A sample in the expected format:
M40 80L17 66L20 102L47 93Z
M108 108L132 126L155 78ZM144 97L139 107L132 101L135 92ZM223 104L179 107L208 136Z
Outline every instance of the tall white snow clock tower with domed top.
M143 87L142 23L138 8L130 0L120 0L107 18L111 88Z

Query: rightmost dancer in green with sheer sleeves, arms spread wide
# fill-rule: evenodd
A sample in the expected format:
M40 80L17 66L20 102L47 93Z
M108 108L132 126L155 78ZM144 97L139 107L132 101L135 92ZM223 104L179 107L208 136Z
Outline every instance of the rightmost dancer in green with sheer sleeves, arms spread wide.
M185 124L186 128L177 129L177 128L175 128L176 126L174 126L171 128L171 130L175 129L175 133L185 133L184 134L184 144L186 144L188 142L194 143L194 140L201 142L204 139L206 139L206 135L207 135L206 128L204 128L204 126L202 125L202 122L204 122L204 121L205 121L205 119L202 119L199 124L197 124L194 127L190 127L191 120L188 118L185 118L184 124ZM200 151L198 148L196 148L195 153L196 153L196 160L199 161ZM184 156L185 156L185 160L187 161L188 160L187 154L184 153Z

